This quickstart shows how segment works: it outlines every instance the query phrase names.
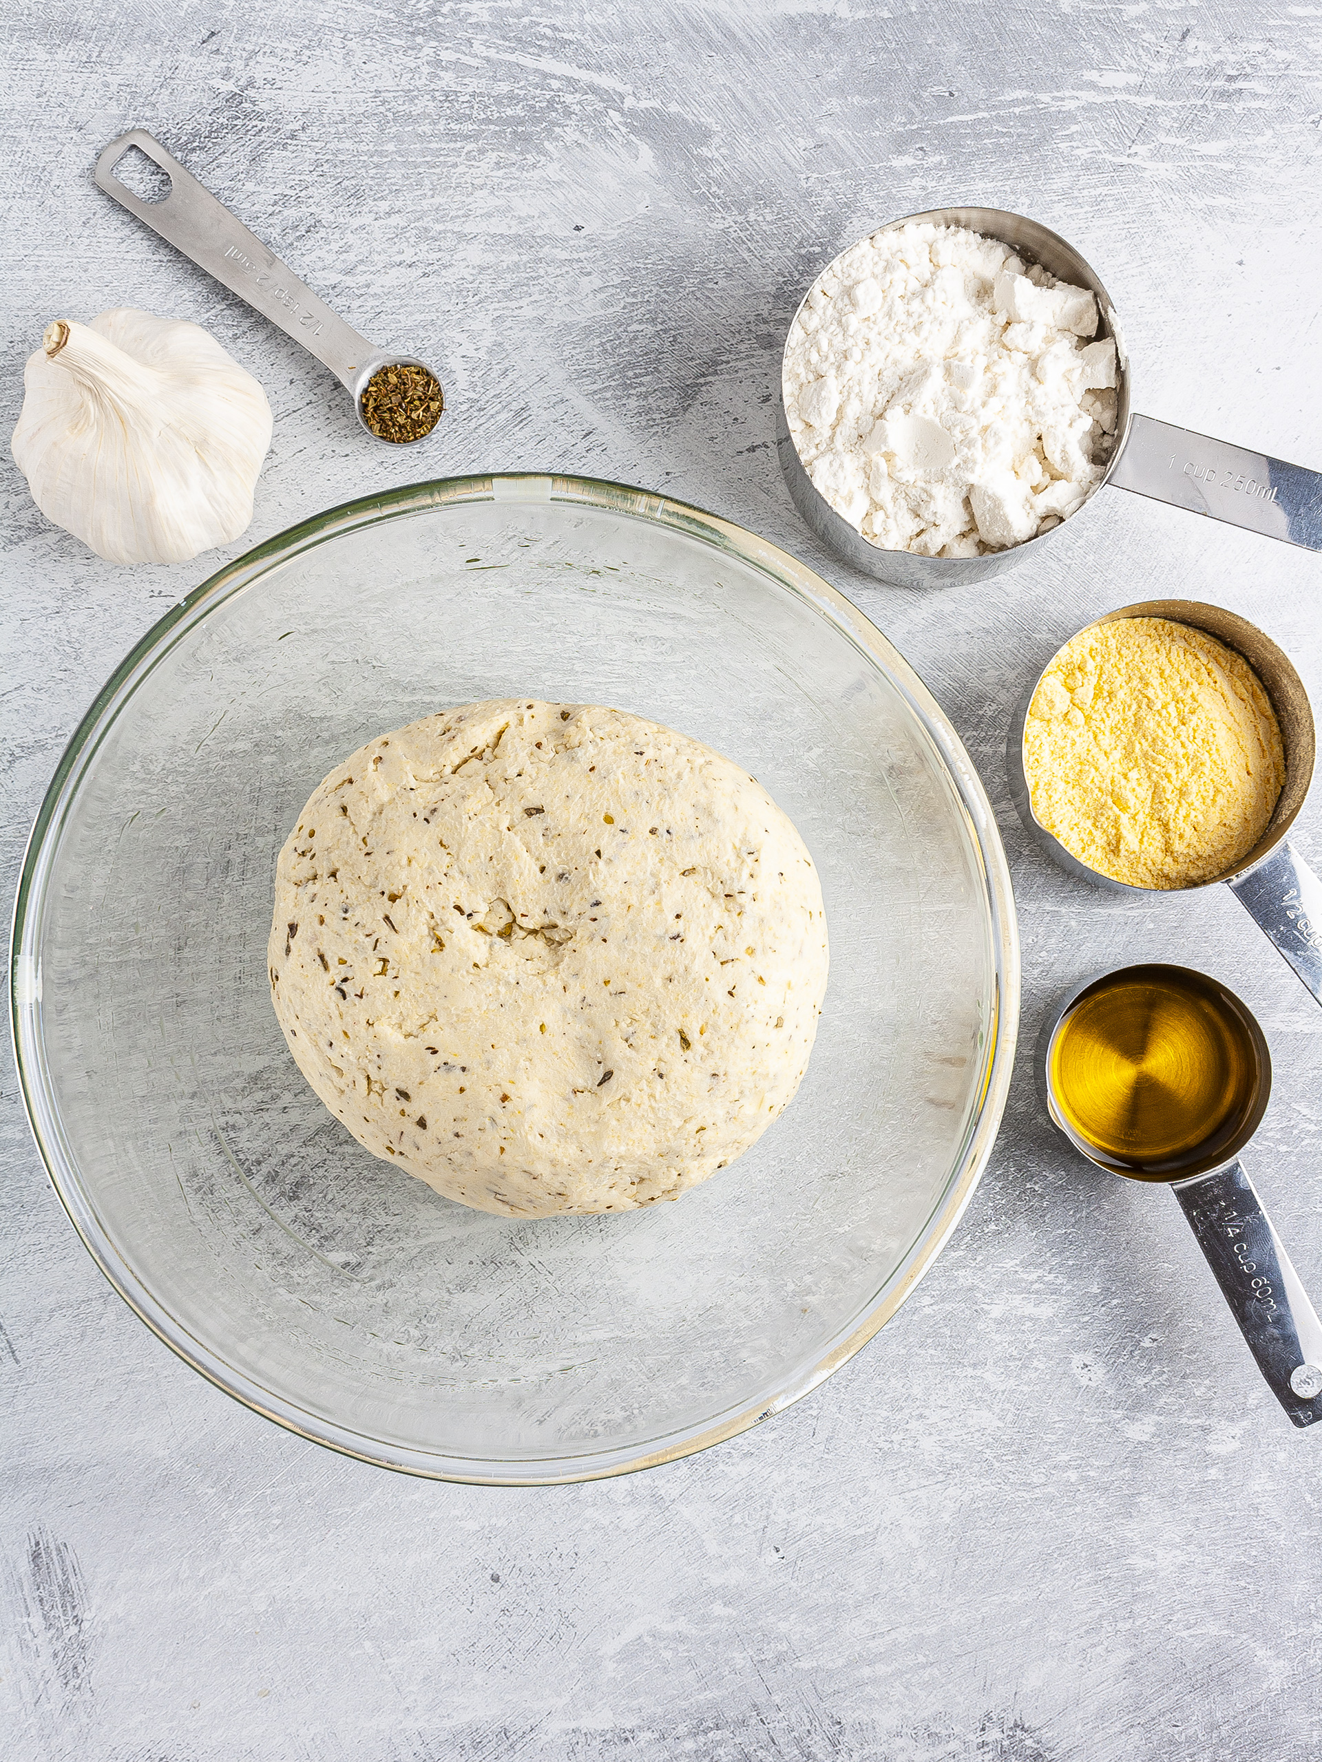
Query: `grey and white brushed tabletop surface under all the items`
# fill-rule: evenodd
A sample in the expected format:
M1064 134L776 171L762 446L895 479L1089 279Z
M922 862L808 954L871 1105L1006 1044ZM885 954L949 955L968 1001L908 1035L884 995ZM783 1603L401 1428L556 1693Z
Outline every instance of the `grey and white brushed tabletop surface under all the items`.
M1142 907L1049 870L999 758L1045 654L1156 592L1266 624L1322 698L1318 560L1107 492L987 589L876 589L814 550L769 435L813 270L878 218L962 199L1084 250L1139 409L1318 463L1318 9L113 11L7 9L26 248L0 426L49 317L143 305L206 324L268 388L249 541L405 476L559 467L821 564L1003 811L1024 1043L1051 996L1125 959L1204 966L1257 1010L1278 1084L1251 1166L1322 1293L1322 1011L1229 893ZM132 123L349 322L442 363L434 449L370 448L324 372L93 189ZM210 560L116 571L0 476L12 886L95 687ZM1322 795L1297 842L1322 862ZM14 1762L1318 1751L1322 1438L1274 1408L1174 1202L1065 1156L1022 1057L964 1225L860 1359L714 1452L545 1492L393 1478L240 1410L100 1281L7 1062L0 1129Z

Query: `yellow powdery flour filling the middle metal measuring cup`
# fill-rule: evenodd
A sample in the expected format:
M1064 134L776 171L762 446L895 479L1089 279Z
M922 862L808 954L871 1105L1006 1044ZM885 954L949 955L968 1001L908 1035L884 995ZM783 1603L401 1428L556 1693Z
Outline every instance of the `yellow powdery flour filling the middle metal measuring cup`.
M1267 828L1285 784L1271 700L1243 655L1169 618L1093 624L1028 708L1033 814L1130 886L1214 881Z

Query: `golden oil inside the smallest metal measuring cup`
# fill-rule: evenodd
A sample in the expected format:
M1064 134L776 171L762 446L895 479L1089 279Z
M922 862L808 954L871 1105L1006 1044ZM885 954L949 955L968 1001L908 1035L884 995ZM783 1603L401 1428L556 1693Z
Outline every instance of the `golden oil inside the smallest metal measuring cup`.
M1271 1059L1234 992L1188 967L1123 967L1059 1022L1047 1082L1109 1168L1179 1181L1236 1154L1262 1117Z

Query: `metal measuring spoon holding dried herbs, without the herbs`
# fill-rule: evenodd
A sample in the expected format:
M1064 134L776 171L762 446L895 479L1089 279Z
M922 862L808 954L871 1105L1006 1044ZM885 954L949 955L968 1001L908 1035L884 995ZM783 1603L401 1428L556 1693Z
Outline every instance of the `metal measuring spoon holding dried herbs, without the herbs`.
M166 173L167 196L146 203L115 176L115 166L130 146L139 148ZM388 440L367 426L363 391L382 366L421 366L435 379L437 388L441 375L416 354L386 352L351 329L324 300L305 287L259 238L249 233L224 203L185 171L178 159L171 159L146 129L130 129L118 141L111 141L97 159L95 176L99 187L129 213L145 220L199 270L213 275L231 294L247 300L254 312L279 324L287 337L328 366L349 389L358 421L374 440L382 440L386 446L418 446L435 433L432 426L416 440Z

